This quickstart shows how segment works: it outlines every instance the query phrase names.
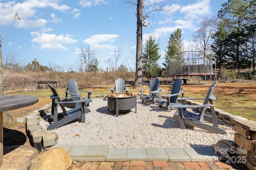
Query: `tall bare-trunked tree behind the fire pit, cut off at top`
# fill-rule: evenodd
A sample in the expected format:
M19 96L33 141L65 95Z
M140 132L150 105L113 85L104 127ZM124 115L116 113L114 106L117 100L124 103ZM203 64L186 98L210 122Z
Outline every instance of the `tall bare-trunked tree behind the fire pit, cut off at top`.
M147 4L144 4L143 0L127 0L126 4L132 4L132 6L137 7L137 13L135 14L137 17L137 31L136 31L136 76L134 82L134 88L138 88L141 85L139 82L142 82L142 27L146 27L148 23L146 23L146 18L149 18L149 15L152 14L154 16L155 11L170 11L164 9L164 4L167 4L166 1L157 1L156 0L146 0ZM143 15L143 9L145 7L145 15Z

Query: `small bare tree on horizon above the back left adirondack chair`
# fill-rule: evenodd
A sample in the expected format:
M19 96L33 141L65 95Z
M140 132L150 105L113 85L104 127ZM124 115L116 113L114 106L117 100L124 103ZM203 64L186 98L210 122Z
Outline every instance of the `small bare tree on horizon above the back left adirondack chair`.
M90 47L90 45L86 48L80 47L80 68L83 68L84 71L90 71L92 69L92 65L95 65L96 57L94 55L94 50ZM84 64L82 64L84 63Z

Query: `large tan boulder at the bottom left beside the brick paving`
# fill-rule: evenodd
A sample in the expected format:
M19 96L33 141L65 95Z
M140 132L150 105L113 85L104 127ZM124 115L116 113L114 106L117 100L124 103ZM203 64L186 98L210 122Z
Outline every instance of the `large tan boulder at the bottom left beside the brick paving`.
M28 170L67 170L72 159L62 147L43 150L32 159Z

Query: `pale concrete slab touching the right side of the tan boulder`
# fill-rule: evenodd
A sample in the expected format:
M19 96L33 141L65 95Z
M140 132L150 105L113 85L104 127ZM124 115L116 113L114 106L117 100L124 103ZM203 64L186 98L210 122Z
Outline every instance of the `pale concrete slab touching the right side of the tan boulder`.
M70 149L68 149L68 154L72 158L72 161L77 160L80 162L84 161L84 155L90 148L90 145L72 145Z

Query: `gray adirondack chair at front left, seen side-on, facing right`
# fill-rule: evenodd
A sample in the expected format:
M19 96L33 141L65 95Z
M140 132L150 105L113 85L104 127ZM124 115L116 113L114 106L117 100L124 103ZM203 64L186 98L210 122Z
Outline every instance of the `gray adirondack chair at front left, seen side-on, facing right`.
M52 113L51 113L51 118L48 119L48 121L52 122L47 127L47 130L52 130L56 129L62 125L65 125L69 123L70 121L73 121L79 117L81 117L81 123L85 123L85 114L90 112L90 109L86 107L86 103L89 102L90 99L84 99L84 100L72 100L70 102L62 102L61 100L63 98L60 98L58 95L56 89L51 86L48 83L49 88L51 89L53 95L51 96L52 99ZM70 97L69 97L70 98ZM77 98L77 97L72 97L72 98ZM78 105L68 111L66 111L65 107L63 104L65 103L81 103L81 105ZM58 113L58 105L62 109L61 113Z

